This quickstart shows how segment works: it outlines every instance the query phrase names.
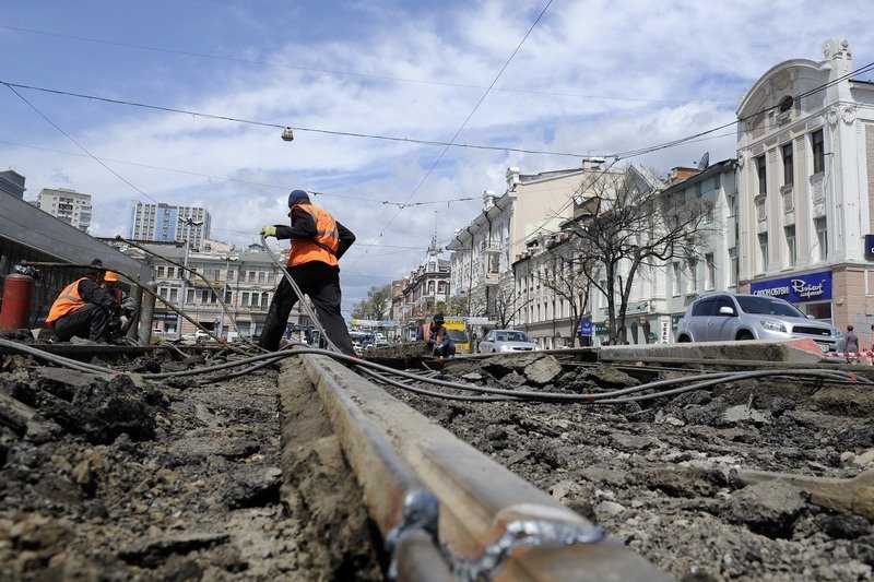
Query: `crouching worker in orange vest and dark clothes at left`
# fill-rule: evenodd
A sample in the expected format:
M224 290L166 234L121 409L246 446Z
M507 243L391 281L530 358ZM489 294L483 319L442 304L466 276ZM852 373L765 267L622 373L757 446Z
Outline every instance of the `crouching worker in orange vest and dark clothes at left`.
M69 342L72 337L110 342L109 318L119 312L120 306L101 287L103 261L94 259L91 266L94 269L63 288L48 311L46 325L54 329L55 336L61 342Z

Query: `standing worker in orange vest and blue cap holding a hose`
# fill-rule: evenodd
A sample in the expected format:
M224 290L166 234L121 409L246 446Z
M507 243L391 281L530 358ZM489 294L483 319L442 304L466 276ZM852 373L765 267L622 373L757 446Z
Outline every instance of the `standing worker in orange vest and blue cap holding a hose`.
M340 312L340 265L343 253L355 242L352 230L327 211L314 205L309 194L294 190L288 194L291 226L267 225L261 235L279 240L292 239L287 270L300 290L309 296L328 337L349 356L354 356L352 337ZM264 321L259 345L270 351L280 347L280 338L294 304L299 297L283 277Z

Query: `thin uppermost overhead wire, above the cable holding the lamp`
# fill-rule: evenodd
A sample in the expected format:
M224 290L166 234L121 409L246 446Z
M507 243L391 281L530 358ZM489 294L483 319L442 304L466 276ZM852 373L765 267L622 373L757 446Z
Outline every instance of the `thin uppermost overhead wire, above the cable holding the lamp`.
M392 76L392 75L380 75L380 74L371 74L371 73L358 73L354 71L336 71L331 69L319 69L316 67L303 67L297 64L290 64L284 62L271 62L271 61L260 61L253 59L244 59L240 57L222 57L220 55L210 55L205 52L194 52L189 50L181 50L181 49L174 49L174 48L165 48L165 47L153 47L149 45L138 45L133 43L121 43L117 40L107 40L102 38L88 38L85 36L78 36L78 35L70 35L70 34L62 34L62 33L51 33L48 31L37 31L34 28L23 28L19 26L7 26L0 25L0 28L7 31L15 31L20 33L27 33L27 34L36 34L36 35L44 35L44 36L54 36L57 38L67 38L70 40L79 40L84 43L95 43L101 45L109 45L109 46L117 46L117 47L125 47L125 48L135 48L139 50L150 50L154 52L165 52L170 55L181 55L185 57L196 57L202 59L214 59L214 60L222 60L228 62L237 62L241 64L256 64L261 67L276 67L282 69L292 69L297 71L305 71L309 73L324 73L324 74L334 74L334 75L342 75L342 76L355 76L361 79L373 79L378 81L393 81L397 83L416 83L422 85L436 85L436 86L444 86L444 87L458 87L458 88L471 88L482 91L486 87L480 85L470 85L465 83L449 83L446 81L433 81L428 79L410 79L403 76ZM572 98L580 98L580 99L603 99L603 100L621 100L621 102L636 102L636 103L664 103L664 104L674 104L674 105L687 105L687 104L712 104L712 105L720 105L720 106L729 106L729 103L716 102L716 100L672 100L672 99L643 99L639 97L605 97L605 96L598 96L598 95L580 95L576 93L564 93L564 92L555 92L555 91L536 91L536 90L525 90L525 88L512 88L512 87L493 87L492 91L498 92L506 92L506 93L522 93L522 94L530 94L530 95L544 95L551 97L572 97Z

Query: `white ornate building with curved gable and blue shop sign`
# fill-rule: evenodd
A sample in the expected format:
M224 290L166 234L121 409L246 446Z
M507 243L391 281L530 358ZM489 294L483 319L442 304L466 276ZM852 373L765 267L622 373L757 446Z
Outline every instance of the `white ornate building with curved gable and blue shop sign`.
M846 38L768 70L737 109L740 290L874 322L874 83Z

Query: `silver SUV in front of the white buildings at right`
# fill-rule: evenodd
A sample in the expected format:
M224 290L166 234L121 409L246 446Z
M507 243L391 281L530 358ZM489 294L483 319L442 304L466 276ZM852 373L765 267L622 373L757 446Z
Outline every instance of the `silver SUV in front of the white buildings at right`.
M695 300L677 322L677 342L810 337L824 352L843 349L843 334L792 304L765 295L714 293Z

